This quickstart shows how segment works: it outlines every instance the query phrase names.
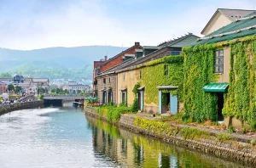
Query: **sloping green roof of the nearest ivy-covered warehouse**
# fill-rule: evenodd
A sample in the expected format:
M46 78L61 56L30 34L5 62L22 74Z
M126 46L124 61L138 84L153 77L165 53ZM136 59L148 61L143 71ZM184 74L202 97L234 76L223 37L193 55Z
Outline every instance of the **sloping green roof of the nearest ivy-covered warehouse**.
M200 38L192 45L229 41L253 34L256 34L256 12L225 25L218 31L213 31L210 35Z

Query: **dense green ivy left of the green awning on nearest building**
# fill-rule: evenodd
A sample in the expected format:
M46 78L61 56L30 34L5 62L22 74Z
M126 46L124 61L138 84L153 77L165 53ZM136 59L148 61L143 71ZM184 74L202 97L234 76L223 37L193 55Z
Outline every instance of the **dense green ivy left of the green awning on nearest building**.
M183 48L184 53L184 117L193 120L217 120L216 94L202 92L210 82L217 81L214 74L214 44Z

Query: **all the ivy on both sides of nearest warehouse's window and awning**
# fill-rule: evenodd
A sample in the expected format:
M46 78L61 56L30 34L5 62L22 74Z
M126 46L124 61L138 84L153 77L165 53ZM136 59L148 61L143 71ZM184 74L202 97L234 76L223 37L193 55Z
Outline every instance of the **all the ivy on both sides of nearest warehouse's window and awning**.
M184 113L196 121L217 120L217 95L203 92L209 82L218 81L214 74L215 51L230 47L230 79L224 94L223 114L247 120L256 125L256 36L230 42L202 44L183 48L184 53ZM225 55L224 55L225 57Z

